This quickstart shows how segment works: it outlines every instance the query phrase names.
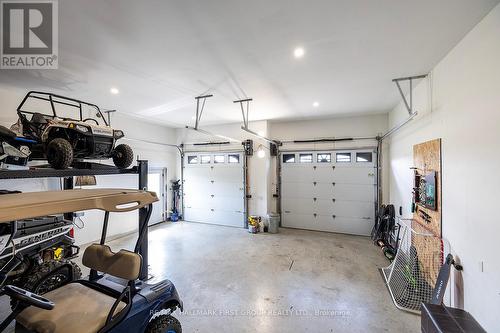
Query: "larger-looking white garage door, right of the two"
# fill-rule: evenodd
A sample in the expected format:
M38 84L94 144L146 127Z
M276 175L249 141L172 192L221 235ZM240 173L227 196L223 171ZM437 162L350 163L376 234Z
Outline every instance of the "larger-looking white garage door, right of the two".
M369 235L374 223L372 150L281 154L284 227Z

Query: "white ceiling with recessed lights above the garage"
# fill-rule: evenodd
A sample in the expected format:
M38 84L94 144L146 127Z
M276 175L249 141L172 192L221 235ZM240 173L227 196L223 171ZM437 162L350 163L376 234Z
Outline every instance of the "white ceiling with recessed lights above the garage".
M251 120L383 113L392 78L428 72L499 1L64 0L59 69L0 83L171 126L193 123L203 93L203 125L241 121L243 97Z

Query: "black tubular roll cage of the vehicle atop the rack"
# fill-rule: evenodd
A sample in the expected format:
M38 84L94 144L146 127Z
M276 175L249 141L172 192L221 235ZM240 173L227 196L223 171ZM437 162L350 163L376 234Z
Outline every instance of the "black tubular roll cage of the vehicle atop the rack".
M47 92L41 92L41 91L30 91L26 94L26 96L24 96L21 104L19 104L19 106L17 107L17 114L19 115L19 117L21 119L25 117L23 114L34 115L34 114L40 113L40 112L23 110L23 106L25 106L26 102L31 98L49 102L51 110L52 110L52 115L46 115L46 116L49 116L51 118L57 117L56 104L60 104L60 105L66 105L66 106L77 108L79 110L80 119L73 119L73 120L83 121L84 119L83 119L82 106L85 106L85 105L90 106L96 110L96 112L97 112L96 114L98 115L97 117L101 118L106 126L109 126L108 121L106 120L106 118L104 117L104 115L101 112L101 109L97 105L92 104L92 103L88 103L88 102L84 102L84 101L81 101L78 99L65 97L65 96L61 96L61 95L56 95L56 94L52 94L52 93L47 93Z

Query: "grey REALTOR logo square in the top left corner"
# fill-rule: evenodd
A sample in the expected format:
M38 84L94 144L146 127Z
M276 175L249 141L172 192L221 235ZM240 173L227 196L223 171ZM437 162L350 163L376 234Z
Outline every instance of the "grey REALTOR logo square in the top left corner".
M57 2L0 1L2 69L56 69Z

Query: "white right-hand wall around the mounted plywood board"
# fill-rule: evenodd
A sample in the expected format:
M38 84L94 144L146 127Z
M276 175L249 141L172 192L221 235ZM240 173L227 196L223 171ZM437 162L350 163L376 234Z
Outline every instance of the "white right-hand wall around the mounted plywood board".
M409 215L412 147L442 138L443 236L464 266L451 282L452 305L489 332L500 331L499 36L500 5L415 87L419 116L390 139L390 201ZM405 117L399 105L391 126Z

